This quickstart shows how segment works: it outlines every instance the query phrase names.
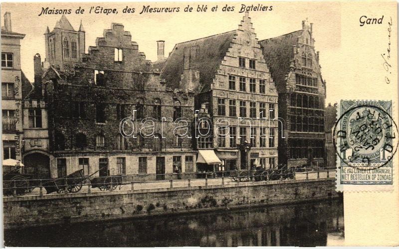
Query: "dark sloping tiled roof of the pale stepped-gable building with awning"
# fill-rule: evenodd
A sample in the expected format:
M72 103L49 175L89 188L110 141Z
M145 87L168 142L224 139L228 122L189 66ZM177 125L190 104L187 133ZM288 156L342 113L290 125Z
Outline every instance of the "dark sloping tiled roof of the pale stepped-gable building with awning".
M236 30L233 30L176 44L161 72L161 78L166 80L168 87L172 89L181 88L180 81L184 70L184 50L197 47L196 67L200 71L201 92L208 92L215 73L235 34Z

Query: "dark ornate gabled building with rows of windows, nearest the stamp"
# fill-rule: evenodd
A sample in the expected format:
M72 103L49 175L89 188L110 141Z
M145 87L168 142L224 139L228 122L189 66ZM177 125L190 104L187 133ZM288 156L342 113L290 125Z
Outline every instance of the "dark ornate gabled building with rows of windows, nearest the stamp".
M324 163L326 88L314 42L312 23L305 21L301 30L259 42L277 88L279 117L285 120L278 158L289 167Z

